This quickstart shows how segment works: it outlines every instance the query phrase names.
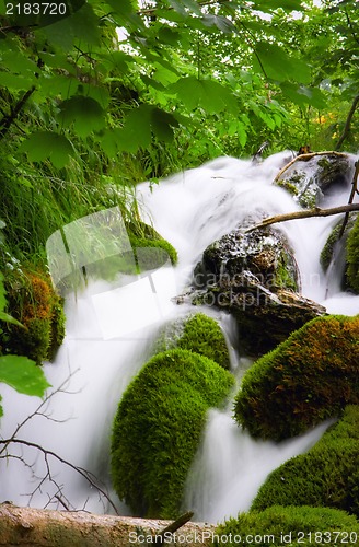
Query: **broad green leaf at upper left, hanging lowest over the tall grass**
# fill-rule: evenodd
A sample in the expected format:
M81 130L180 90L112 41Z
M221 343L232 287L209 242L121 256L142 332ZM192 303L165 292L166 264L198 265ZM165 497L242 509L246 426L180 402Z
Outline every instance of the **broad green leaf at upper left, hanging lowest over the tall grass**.
M49 159L55 167L63 167L71 155L73 147L62 135L53 131L33 132L20 147L20 152L26 152L32 162Z

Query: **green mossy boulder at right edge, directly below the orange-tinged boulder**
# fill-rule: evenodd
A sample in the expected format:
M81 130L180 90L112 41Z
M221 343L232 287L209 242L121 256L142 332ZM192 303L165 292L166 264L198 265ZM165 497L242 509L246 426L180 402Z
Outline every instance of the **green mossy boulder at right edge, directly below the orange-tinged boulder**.
M269 475L252 509L270 505L331 507L359 515L358 406L346 407L340 420L306 454Z

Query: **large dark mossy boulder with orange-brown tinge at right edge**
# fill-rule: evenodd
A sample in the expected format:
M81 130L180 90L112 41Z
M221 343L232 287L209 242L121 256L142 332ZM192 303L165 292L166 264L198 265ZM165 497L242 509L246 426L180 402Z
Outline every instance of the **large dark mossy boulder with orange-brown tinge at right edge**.
M253 437L300 434L359 404L359 316L311 321L245 373L235 419Z

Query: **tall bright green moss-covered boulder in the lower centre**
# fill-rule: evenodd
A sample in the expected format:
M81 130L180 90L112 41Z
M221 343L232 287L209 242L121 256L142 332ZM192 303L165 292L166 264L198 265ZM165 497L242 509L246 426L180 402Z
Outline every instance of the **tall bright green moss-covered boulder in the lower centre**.
M159 353L126 389L114 420L114 488L139 516L172 519L198 449L206 412L234 379L192 351Z

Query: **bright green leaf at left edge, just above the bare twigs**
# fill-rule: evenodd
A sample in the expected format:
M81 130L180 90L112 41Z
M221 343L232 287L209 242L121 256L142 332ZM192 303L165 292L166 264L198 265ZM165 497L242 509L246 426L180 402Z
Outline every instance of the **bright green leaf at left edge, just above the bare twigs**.
M50 384L44 371L27 357L0 357L0 382L3 382L19 393L43 397Z

